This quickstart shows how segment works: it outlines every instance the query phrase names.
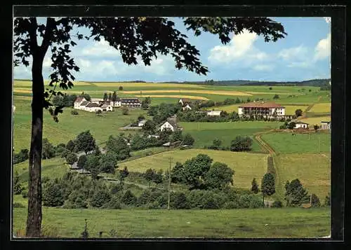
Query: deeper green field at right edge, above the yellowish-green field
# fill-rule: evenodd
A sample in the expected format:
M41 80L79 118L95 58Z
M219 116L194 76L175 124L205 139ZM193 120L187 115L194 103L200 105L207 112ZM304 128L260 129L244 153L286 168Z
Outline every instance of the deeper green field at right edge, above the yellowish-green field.
M331 151L331 134L296 134L289 132L263 134L262 139L277 153L321 153Z

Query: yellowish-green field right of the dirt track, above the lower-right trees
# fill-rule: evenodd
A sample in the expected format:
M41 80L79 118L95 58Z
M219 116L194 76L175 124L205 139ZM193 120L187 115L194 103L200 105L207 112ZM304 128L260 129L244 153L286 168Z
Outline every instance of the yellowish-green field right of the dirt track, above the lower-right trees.
M276 164L282 188L286 181L297 178L308 193L316 194L324 204L325 197L331 188L330 153L281 154L277 156Z

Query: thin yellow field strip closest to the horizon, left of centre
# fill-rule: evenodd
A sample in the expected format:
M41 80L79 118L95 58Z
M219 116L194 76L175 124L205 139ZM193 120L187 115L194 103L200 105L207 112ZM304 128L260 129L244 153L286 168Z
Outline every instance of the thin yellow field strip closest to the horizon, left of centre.
M180 83L91 83L98 87L143 87L143 88L164 88L164 87L178 87L178 88L204 88L201 85L194 84L180 84Z

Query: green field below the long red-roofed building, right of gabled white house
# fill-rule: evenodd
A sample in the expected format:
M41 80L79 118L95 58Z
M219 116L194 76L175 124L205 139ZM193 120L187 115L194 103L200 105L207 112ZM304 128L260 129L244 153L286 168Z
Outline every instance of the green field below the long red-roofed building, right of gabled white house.
M234 122L234 123L179 123L183 133L189 132L195 139L194 146L210 146L213 139L220 139L223 146L230 146L230 141L238 135L253 136L254 133L279 128L279 122ZM253 151L261 151L259 144L253 140Z

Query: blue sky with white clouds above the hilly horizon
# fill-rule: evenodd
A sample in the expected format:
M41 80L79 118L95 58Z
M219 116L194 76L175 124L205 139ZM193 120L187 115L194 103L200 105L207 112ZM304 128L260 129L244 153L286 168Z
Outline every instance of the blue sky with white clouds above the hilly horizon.
M76 81L305 81L331 77L331 23L329 18L271 18L282 23L288 34L284 39L266 43L262 36L244 32L232 34L223 45L218 36L188 32L180 18L171 18L175 27L188 36L187 41L199 51L199 59L208 67L206 76L186 69L176 69L171 55L159 55L151 66L124 64L118 50L102 40L79 40L72 56L80 71ZM39 21L45 21L44 19ZM73 30L77 33L77 29ZM39 44L41 43L39 39ZM44 59L43 76L51 72L51 54ZM13 69L13 78L32 79L31 69Z

